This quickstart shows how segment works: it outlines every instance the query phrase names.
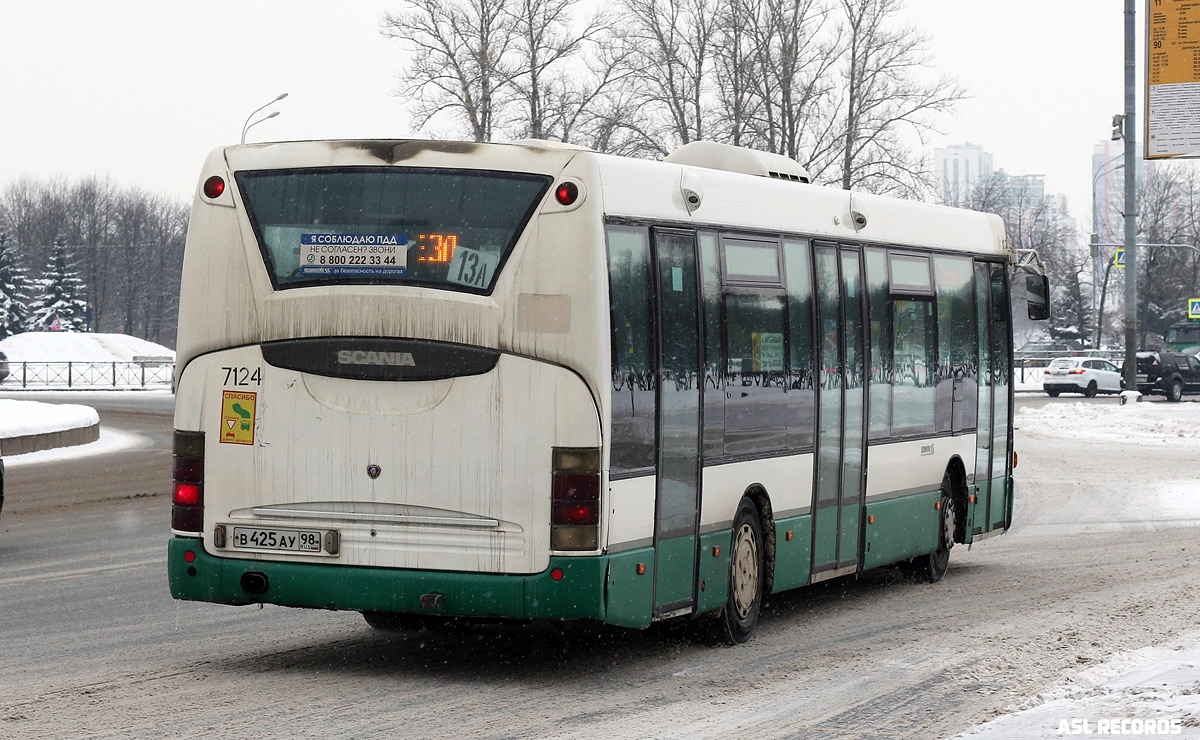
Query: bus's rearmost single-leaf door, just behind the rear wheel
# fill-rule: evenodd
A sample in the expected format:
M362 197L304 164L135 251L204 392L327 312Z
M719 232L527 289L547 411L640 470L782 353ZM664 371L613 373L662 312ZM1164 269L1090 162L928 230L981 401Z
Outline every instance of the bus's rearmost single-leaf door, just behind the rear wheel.
M696 235L654 229L658 273L658 495L654 511L654 614L696 604L700 534L702 333Z

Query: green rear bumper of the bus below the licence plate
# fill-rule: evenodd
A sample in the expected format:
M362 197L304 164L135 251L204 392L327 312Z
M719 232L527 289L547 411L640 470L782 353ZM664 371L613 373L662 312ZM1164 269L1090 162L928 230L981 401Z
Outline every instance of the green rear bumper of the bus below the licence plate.
M218 558L196 537L175 537L167 551L170 595L185 601L445 616L604 620L607 568L604 555L551 558L530 576L271 562ZM431 594L442 596L436 610L421 608Z

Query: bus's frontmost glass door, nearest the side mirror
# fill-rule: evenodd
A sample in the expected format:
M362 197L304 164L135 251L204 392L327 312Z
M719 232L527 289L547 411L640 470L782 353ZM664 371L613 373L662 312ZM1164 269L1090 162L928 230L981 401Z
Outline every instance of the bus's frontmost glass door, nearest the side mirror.
M1012 433L1012 329L1004 265L976 263L979 327L979 416L976 441L976 500L967 512L968 541L1008 525L1008 461Z

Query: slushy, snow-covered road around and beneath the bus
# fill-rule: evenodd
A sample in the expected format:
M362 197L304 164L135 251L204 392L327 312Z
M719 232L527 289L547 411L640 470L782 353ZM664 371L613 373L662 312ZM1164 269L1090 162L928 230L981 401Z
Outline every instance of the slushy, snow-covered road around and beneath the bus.
M878 571L773 596L733 649L173 602L170 419L97 407L151 444L10 470L0 738L953 736L1200 627L1200 403L1018 403L1010 534L955 548L936 585ZM1030 736L1056 736L1044 721Z

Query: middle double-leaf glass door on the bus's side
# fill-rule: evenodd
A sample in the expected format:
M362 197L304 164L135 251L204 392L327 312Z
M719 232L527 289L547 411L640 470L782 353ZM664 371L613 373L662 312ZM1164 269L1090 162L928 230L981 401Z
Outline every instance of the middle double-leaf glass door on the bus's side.
M817 245L816 481L812 580L853 573L865 507L864 290L857 248Z

